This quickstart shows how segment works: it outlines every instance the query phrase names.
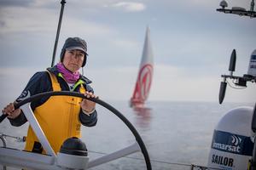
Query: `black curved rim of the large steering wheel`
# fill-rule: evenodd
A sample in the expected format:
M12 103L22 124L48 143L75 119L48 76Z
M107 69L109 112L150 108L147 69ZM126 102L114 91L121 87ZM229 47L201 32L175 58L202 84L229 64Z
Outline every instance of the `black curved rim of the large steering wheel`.
M15 109L20 108L21 105L25 105L29 102L32 102L34 100L37 99L41 99L43 97L50 97L50 96L60 96L60 95L65 95L65 96L73 96L73 97L79 97L79 98L83 98L83 99L89 99L90 101L96 102L99 105L102 105L103 107L105 107L106 109L108 109L108 111L111 111L115 116L118 116L119 119L125 123L125 125L131 130L131 133L134 135L135 139L137 140L137 144L139 145L143 156L144 156L144 161L146 163L147 166L147 170L151 170L151 162L148 156L148 150L146 149L146 146L143 142L143 139L141 138L141 136L139 135L139 133L137 133L137 130L135 127L133 127L133 125L131 124L131 122L128 121L128 119L123 116L119 111L117 111L115 108L113 108L112 105L108 105L106 102L102 101L101 99L96 99L96 98L86 98L84 96L84 94L80 94L78 92L69 92L69 91L55 91L55 92L45 92L45 93L41 93L41 94L36 94L33 95L29 98L23 99L22 101L20 101L19 103L15 103ZM7 115L2 115L0 116L0 123L3 122L4 118L7 117Z

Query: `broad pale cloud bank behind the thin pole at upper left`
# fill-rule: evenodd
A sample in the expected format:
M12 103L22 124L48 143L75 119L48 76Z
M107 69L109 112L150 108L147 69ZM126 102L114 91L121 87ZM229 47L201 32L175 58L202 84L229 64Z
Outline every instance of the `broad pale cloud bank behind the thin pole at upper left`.
M49 3L33 2L33 5L44 6ZM47 1L48 2L48 1ZM106 35L112 30L108 26L93 21L78 18L76 15L66 12L62 20L61 33L74 34L90 34L90 35ZM73 12L73 11L71 11ZM51 8L33 8L12 6L1 9L0 17L0 35L7 33L38 33L49 34L55 33L56 25L59 20L56 11Z

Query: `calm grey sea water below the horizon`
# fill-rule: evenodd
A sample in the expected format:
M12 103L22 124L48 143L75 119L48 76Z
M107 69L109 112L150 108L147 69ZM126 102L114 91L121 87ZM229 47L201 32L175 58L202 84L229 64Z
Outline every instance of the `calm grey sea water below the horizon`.
M108 101L107 101L108 102ZM190 164L207 166L212 133L218 121L228 111L253 103L211 102L148 102L148 109L133 110L127 101L111 101L137 128L147 146L152 167L160 169L190 169ZM3 105L1 104L1 107ZM90 150L90 159L111 153L136 141L131 131L113 113L97 105L96 127L83 127L82 139ZM0 124L0 133L26 136L26 125L11 127L8 120ZM8 146L22 150L24 143L7 138ZM8 168L9 169L9 168ZM90 169L146 169L140 152Z

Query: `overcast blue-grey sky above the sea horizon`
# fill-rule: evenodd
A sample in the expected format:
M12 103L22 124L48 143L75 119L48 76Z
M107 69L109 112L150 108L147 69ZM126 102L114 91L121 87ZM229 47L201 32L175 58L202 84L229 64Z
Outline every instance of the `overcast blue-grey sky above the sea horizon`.
M0 0L1 98L15 99L36 71L51 64L61 1ZM154 78L149 100L218 102L221 74L247 73L256 19L218 13L218 0L67 0L55 63L67 37L88 42L84 75L103 100L129 100L151 31ZM250 7L250 0L227 0ZM227 88L224 102L255 102L255 83Z

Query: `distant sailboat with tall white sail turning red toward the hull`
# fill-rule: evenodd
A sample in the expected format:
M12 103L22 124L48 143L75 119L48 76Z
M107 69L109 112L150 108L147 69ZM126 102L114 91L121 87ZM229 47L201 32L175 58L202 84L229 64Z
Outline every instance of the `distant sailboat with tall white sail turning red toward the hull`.
M148 99L149 90L153 77L153 51L150 42L150 31L147 27L143 58L141 60L140 69L137 76L137 82L131 97L131 107L143 107L146 99Z

